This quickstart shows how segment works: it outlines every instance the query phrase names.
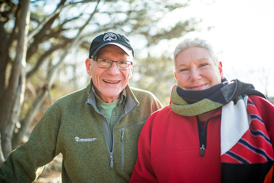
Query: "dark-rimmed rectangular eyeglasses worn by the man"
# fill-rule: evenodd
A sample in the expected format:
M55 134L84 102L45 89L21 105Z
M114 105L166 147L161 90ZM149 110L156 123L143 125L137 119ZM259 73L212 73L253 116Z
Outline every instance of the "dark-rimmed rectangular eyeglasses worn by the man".
M93 58L97 62L98 67L110 68L113 62L116 62L118 69L128 70L131 68L132 62L129 61L113 61L105 58Z

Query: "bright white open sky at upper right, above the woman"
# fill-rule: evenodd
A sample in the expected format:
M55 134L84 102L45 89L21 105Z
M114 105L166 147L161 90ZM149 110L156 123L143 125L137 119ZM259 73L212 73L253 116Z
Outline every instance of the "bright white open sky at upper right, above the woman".
M274 97L274 1L206 2L210 0L192 0L181 12L181 16L202 18L199 28L203 31L185 37L208 40L218 53L228 79L253 83L263 93L267 86L268 96ZM213 28L207 31L209 26Z

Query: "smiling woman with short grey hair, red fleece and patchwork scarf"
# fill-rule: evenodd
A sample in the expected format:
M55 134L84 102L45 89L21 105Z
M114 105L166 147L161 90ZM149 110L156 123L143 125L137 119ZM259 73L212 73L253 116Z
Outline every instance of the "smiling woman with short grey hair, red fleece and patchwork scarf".
M206 40L174 51L170 105L142 128L130 182L271 182L274 106L252 84L223 76Z

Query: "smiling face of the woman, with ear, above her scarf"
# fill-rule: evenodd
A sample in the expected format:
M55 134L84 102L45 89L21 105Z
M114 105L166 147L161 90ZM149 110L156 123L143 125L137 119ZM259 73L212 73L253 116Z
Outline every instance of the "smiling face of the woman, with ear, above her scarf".
M181 51L174 61L174 76L183 90L205 90L221 83L222 63L218 65L206 48L194 47Z

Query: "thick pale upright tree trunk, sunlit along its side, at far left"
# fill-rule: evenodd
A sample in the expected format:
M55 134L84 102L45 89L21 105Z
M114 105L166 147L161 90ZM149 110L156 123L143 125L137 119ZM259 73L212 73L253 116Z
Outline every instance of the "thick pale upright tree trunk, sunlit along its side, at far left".
M29 5L30 0L22 0L20 3L20 13L18 20L18 42L16 47L16 57L12 63L12 71L9 77L9 86L3 94L2 110L0 111L1 142L3 155L6 158L12 151L12 135L14 126L18 120L20 108L25 94L26 83L26 50L27 33L30 20Z

